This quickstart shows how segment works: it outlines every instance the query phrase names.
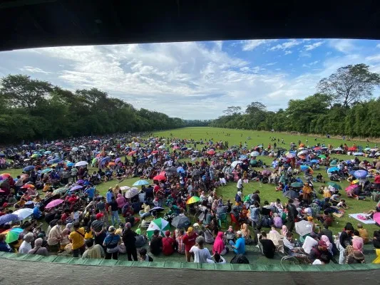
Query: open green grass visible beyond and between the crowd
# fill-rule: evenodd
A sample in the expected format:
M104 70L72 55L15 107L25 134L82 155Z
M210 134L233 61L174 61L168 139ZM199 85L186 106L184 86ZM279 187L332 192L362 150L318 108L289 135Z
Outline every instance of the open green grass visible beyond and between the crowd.
M227 137L226 133L230 133L230 136ZM260 145L263 144L265 147L269 144L270 140L269 137L275 136L276 138L284 138L284 141L286 145L284 145L285 148L289 148L289 143L290 142L295 142L297 143L298 140L301 140L302 142L306 143L305 140L309 138L309 145L314 144L314 137L311 136L301 136L301 135L289 135L289 134L282 134L282 133L270 133L270 132L258 132L258 131L249 131L249 130L232 130L232 129L222 129L222 128L182 128L182 129L177 129L177 130L168 130L164 132L158 132L155 133L157 136L162 136L165 138L171 138L170 134L173 135L174 138L192 138L195 140L200 140L201 138L203 140L205 139L213 139L215 141L219 140L227 140L229 142L229 145L238 145L240 142L244 144L247 142L248 147L252 147L255 145ZM242 135L242 136L241 136ZM247 140L247 137L251 137L251 140ZM338 147L341 143L344 143L343 140L338 140L338 139L327 139L327 138L317 138L317 142L321 142L324 144L329 144L331 143L334 147ZM354 143L354 141L347 142L347 145L351 146ZM279 145L279 143L277 142ZM365 146L366 142L360 142L356 141L356 145L362 145ZM374 147L374 142L369 143L370 147ZM198 145L199 148L199 145ZM351 159L352 156L348 155L334 155L333 157L337 157L342 160L348 160ZM267 165L270 165L272 162L272 158L270 157L260 157L261 160L267 163ZM362 159L362 158L361 158ZM184 159L186 161L187 159ZM94 168L89 168L89 172L92 173L96 169ZM2 170L0 173L8 172L10 173L13 177L16 177L16 175L21 174L21 170ZM324 172L323 169L320 171L325 179L327 180L327 174ZM138 177L135 178L130 178L128 180L124 180L123 182L120 182L120 186L128 185L131 186L135 181L138 180ZM327 180L328 181L328 180ZM114 187L115 184L117 183L117 180L111 180L109 182L103 182L101 185L98 185L96 188L97 190L101 193L101 195L105 195L106 191L108 190L109 187ZM314 187L316 189L319 188L321 184L320 183L315 183ZM349 184L348 182L344 181L341 183L342 188L344 189L347 187ZM281 199L282 202L286 202L287 199L282 197L282 194L279 192L274 191L274 185L272 184L260 184L258 182L250 182L249 184L245 185L245 190L244 194L250 194L255 190L260 190L260 197L262 201L267 200L269 202L274 202L277 198ZM344 190L341 191L342 196L345 197L345 192ZM220 187L217 189L217 195L222 195L224 200L231 199L232 201L235 199L235 194L236 194L236 183L235 182L230 182L227 184L225 187ZM321 195L318 195L321 197ZM350 213L357 213L357 212L364 212L368 211L369 209L374 209L375 202L373 202L371 199L367 198L365 201L356 201L354 199L346 198L346 203L349 206L349 209L346 210L346 214L344 217L340 219L336 219L334 222L334 226L332 227L333 232L339 232L342 230L344 227L344 224L346 222L351 222L352 224L356 225L357 221L355 219L352 219L348 216ZM366 229L369 230L370 234L375 230L378 229L378 227L374 225L366 225Z

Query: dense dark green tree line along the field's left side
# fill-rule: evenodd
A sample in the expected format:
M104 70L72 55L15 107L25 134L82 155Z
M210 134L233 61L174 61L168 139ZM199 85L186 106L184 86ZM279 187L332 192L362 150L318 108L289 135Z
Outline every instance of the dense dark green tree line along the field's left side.
M75 92L25 75L0 80L0 142L165 130L180 118L111 98L96 88ZM192 122L194 123L194 122Z

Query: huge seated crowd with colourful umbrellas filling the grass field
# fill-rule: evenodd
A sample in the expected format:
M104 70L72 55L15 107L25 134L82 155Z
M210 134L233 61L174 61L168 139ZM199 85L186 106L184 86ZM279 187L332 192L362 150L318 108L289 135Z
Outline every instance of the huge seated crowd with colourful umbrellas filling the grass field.
M376 249L374 263L380 263L379 230L370 237L363 223L347 223L337 236L329 229L347 209L346 199L379 201L377 160L338 160L332 145L301 141L285 150L275 138L274 145L249 148L139 135L31 143L1 152L12 160L6 167L23 169L17 177L0 175L0 251L93 259L127 254L135 261L178 252L198 263L225 263L231 252L231 263L247 263L245 246L255 244L269 259L279 252L309 264L353 264L366 261L363 247L369 243ZM373 156L377 150L367 151ZM263 155L272 157L272 165L260 160ZM88 165L98 171L89 172ZM119 186L130 177L140 180ZM115 187L99 195L96 185L111 180ZM350 183L345 191L342 180ZM236 183L234 200L217 195L228 182ZM259 190L246 190L250 182L272 183L279 199L263 201ZM314 182L323 186L314 189ZM379 226L380 203L361 219Z

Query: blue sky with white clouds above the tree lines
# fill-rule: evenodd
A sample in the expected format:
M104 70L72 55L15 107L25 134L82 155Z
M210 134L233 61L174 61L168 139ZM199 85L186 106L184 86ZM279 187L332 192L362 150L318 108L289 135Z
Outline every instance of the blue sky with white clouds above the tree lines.
M188 120L230 105L268 110L316 92L349 64L380 73L380 41L281 39L34 48L0 53L0 77L22 73L68 90L99 88L132 104ZM379 95L379 94L375 94Z

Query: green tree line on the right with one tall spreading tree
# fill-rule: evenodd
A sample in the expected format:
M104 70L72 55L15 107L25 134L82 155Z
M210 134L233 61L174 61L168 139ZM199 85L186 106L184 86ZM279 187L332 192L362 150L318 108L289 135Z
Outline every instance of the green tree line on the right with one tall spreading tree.
M289 100L286 109L269 111L260 102L245 110L230 106L210 126L379 138L380 98L373 98L379 86L380 76L369 66L344 66L319 81L318 93Z

